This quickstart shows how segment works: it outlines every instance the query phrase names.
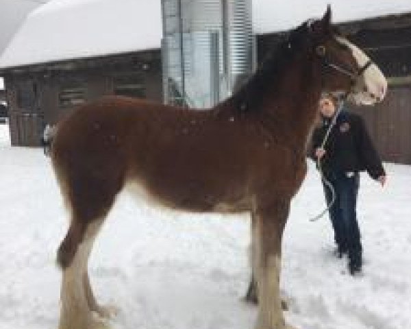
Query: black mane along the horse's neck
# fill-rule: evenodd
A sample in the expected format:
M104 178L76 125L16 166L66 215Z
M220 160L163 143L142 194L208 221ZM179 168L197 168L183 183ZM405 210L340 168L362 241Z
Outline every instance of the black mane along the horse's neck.
M279 84L290 62L306 46L310 21L293 29L282 42L269 51L249 80L227 101L236 112L258 112L267 88Z

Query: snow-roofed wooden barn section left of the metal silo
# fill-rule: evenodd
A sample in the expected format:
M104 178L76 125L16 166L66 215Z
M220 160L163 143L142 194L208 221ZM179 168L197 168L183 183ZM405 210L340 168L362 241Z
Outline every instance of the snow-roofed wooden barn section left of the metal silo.
M160 1L121 3L51 1L29 14L0 58L12 145L39 145L45 125L101 95L162 101Z

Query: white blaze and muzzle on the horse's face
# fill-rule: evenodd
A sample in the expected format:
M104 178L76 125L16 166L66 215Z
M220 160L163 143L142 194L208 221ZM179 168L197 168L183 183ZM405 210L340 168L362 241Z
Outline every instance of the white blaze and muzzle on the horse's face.
M358 67L362 68L369 62L370 58L366 56L364 51L359 49L356 45L353 45L347 39L336 36L336 40L351 49L353 58L356 59ZM364 87L366 88L364 88L364 90L357 90L356 95L353 95L353 100L356 101L356 103L371 105L384 99L388 83L377 65L374 63L371 64L362 73L362 80Z

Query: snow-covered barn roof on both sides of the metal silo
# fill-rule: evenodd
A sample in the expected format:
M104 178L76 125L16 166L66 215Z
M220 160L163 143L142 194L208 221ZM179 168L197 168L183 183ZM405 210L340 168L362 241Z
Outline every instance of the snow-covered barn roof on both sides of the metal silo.
M410 0L253 0L253 29L266 34L318 17L332 4L334 21L411 12ZM0 57L0 69L158 49L160 0L52 0L27 16Z

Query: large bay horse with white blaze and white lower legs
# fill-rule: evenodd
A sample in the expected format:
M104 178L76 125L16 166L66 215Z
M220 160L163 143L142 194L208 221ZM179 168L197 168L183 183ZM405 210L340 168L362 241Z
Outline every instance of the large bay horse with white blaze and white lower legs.
M109 328L92 293L92 244L125 187L191 212L249 212L258 329L286 325L279 296L282 233L306 175L306 145L324 90L382 101L377 66L331 24L310 20L232 97L208 110L105 97L61 121L51 158L71 212L59 249L60 329Z

